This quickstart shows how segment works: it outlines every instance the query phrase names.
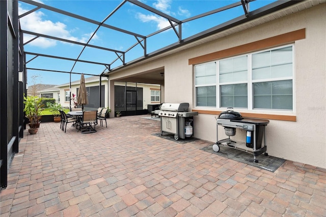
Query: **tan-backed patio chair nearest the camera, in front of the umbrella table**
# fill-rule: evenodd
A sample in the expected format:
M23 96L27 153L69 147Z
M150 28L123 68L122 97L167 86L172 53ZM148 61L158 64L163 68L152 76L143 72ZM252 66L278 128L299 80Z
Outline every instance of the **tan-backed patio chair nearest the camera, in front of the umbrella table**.
M96 110L84 111L82 120L80 120L80 123L79 123L79 130L82 131L82 133L97 132L95 129L96 124L97 124L97 111ZM93 126L94 126L94 128L93 128ZM84 128L84 129L82 129L82 128Z

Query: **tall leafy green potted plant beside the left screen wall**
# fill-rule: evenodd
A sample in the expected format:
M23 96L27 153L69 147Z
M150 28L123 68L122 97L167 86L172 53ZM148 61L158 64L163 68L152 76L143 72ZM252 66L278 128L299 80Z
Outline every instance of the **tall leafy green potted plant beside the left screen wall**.
M40 127L40 119L42 117L43 104L42 98L38 96L24 96L24 113L26 118L30 120L29 132L35 134Z

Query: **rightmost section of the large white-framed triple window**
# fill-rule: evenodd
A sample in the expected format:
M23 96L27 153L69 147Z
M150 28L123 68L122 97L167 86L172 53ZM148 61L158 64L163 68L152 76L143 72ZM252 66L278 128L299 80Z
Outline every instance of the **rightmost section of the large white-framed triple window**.
M293 109L292 46L252 55L253 108Z

